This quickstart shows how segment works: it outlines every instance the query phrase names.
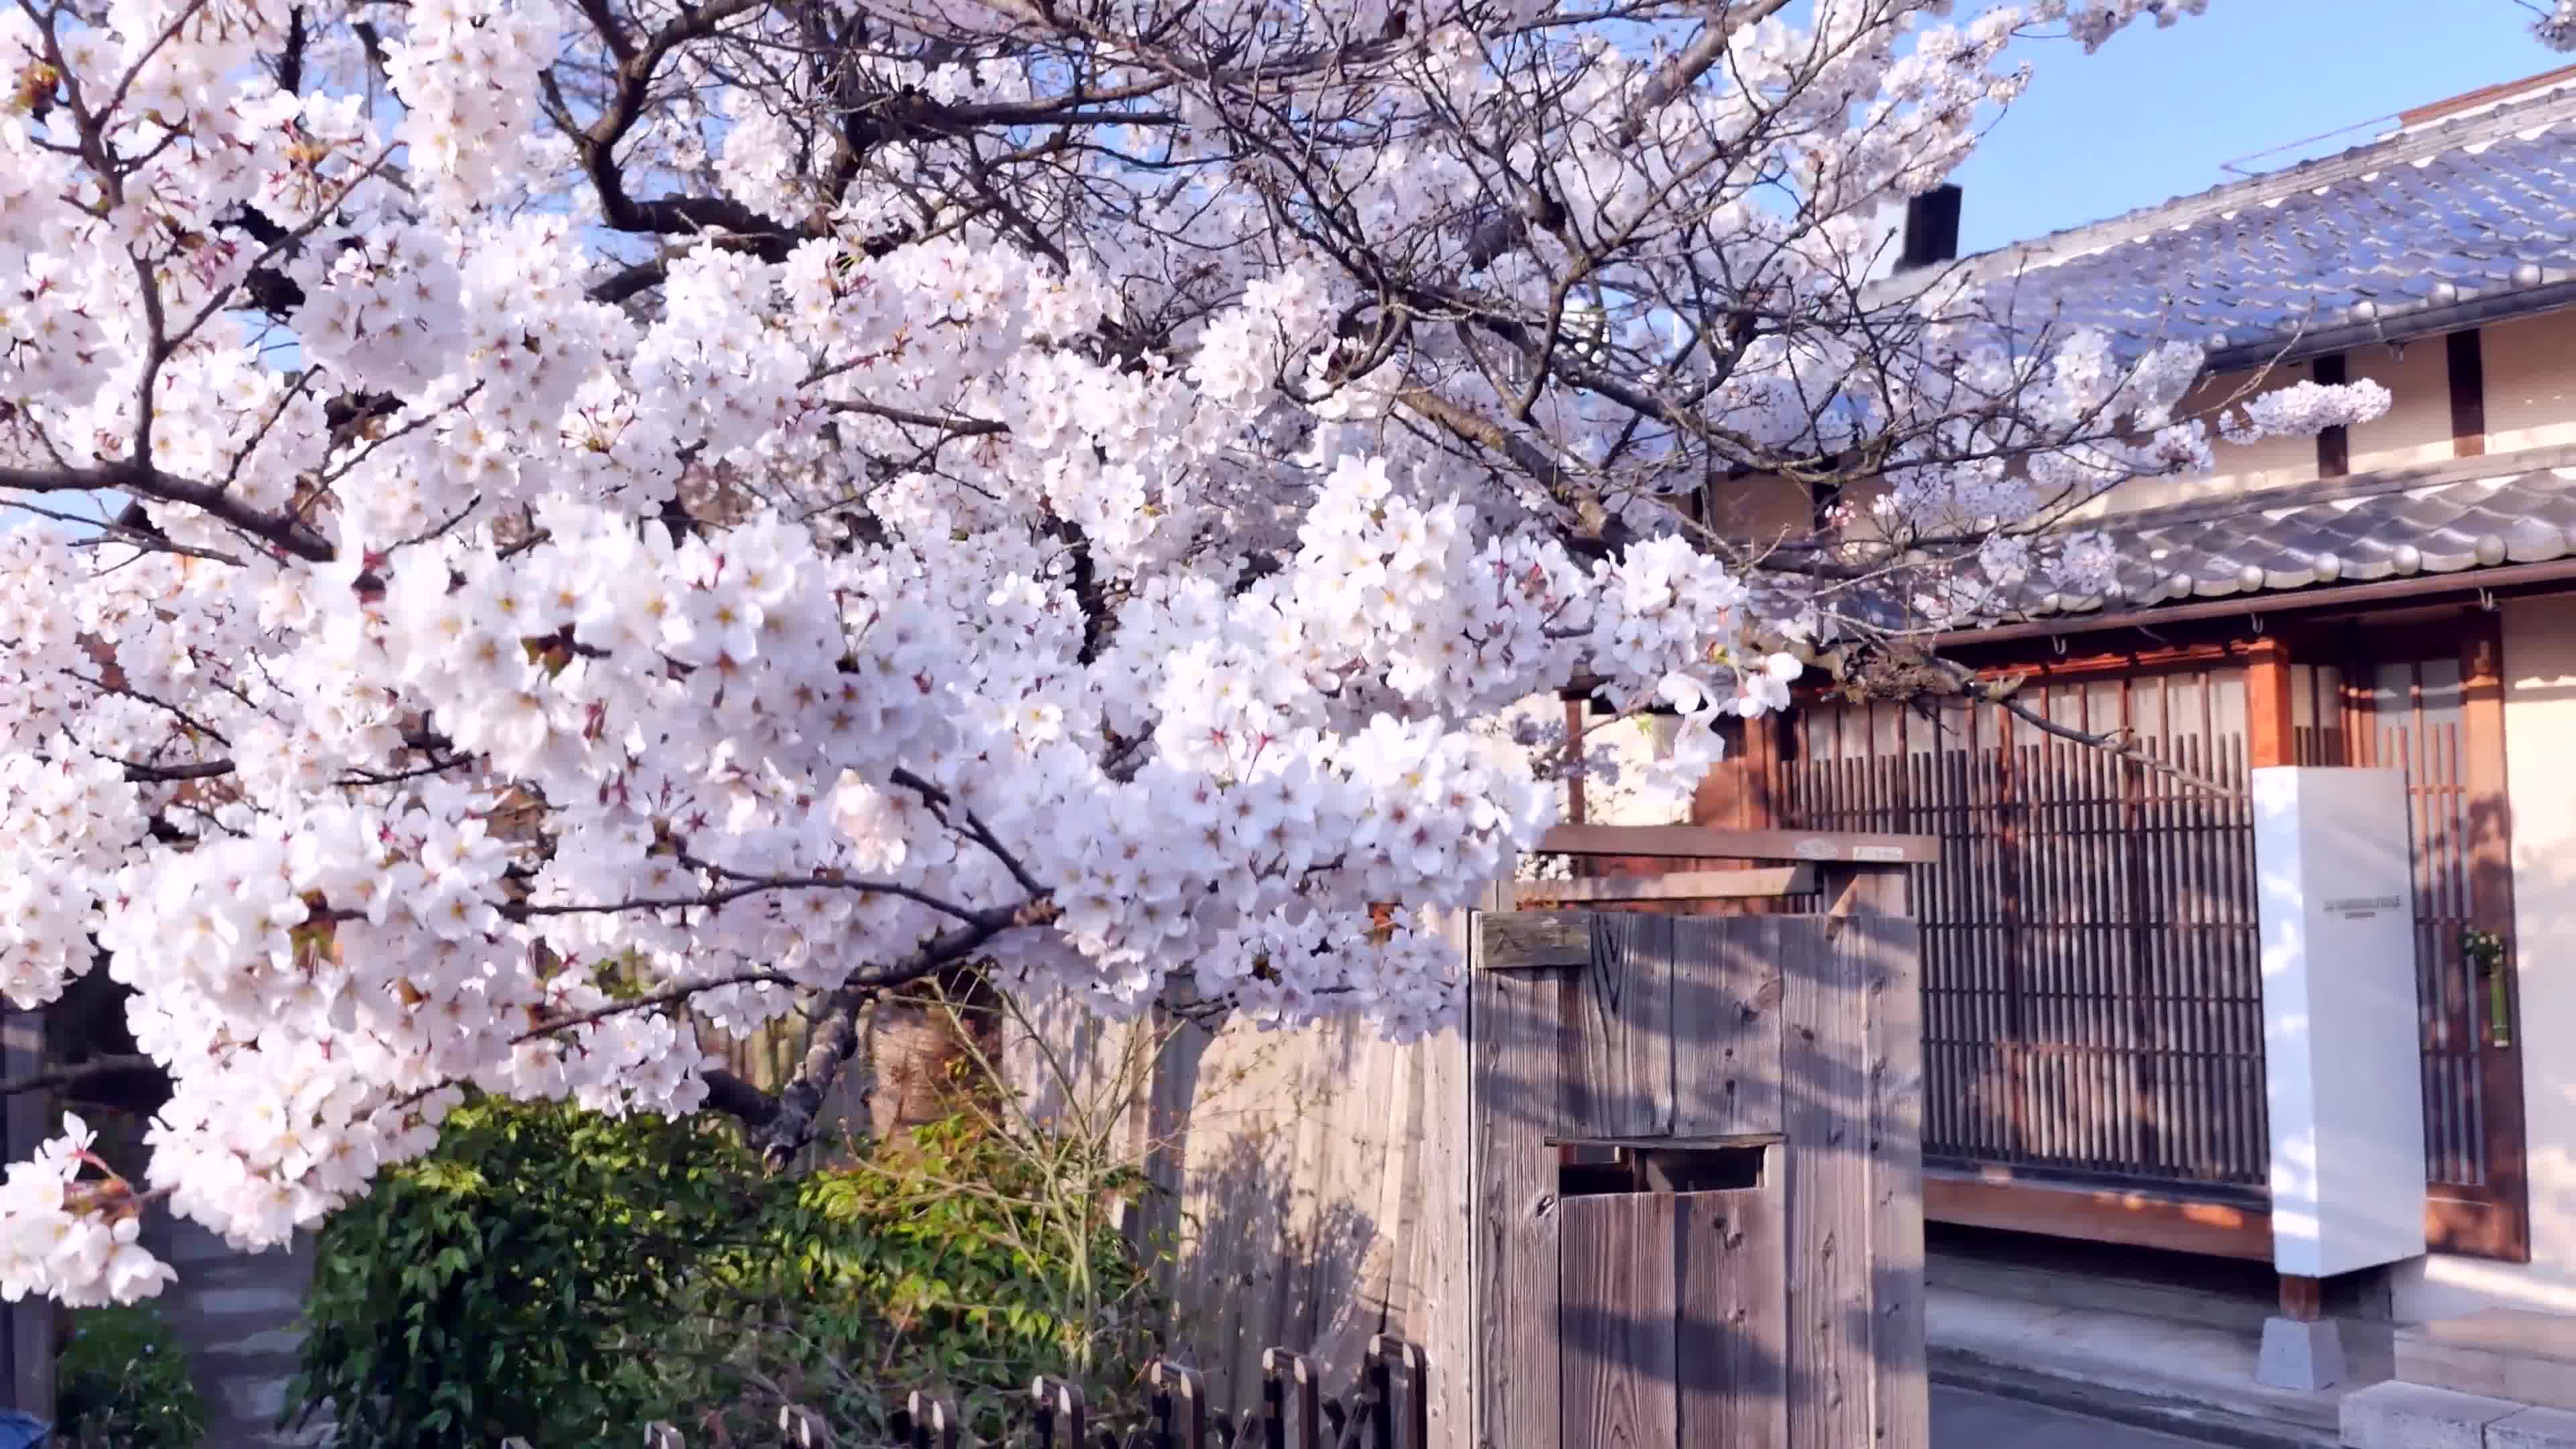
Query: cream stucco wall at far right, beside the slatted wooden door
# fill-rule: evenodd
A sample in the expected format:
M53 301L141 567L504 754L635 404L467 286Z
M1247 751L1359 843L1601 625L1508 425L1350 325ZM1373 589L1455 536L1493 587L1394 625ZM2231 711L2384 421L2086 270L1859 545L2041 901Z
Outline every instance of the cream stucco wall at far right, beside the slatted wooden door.
M2393 1284L2403 1320L2576 1312L2576 598L2504 603L2504 678L2532 1261L2409 1263Z

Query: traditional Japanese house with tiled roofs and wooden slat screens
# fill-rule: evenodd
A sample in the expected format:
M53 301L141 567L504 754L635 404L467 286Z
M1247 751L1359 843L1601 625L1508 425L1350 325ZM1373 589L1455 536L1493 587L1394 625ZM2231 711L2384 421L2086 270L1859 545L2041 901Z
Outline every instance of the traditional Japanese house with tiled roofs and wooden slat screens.
M1909 260L1942 263L1955 217L1919 204ZM2120 549L2112 596L2022 596L1940 639L2223 789L1994 704L1826 688L1703 786L1710 825L1942 841L1914 895L1929 1217L2267 1263L2246 771L2396 766L2421 1049L2388 1070L2424 1088L2432 1253L2380 1302L2576 1312L2576 1057L2550 1047L2576 1034L2576 72L1945 266L2133 345L2208 340L2208 400L2269 369L2396 402L2117 487L2076 518ZM1718 518L1826 503L1739 490Z

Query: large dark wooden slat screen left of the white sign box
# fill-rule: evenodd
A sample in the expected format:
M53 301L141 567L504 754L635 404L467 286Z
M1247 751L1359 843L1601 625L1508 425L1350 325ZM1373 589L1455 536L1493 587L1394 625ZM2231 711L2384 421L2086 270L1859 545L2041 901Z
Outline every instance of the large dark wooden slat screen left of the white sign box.
M2130 730L2228 794L2048 737L1819 706L1790 822L1940 835L1917 866L1924 1158L2257 1196L2269 1176L2244 670L2032 681L2048 719Z

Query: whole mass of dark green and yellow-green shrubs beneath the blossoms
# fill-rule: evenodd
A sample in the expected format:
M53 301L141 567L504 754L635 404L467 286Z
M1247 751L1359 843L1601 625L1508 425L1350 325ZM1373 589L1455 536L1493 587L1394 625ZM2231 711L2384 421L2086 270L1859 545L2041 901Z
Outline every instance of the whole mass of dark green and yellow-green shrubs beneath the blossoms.
M925 1382L1113 1392L1131 1186L974 1111L791 1178L721 1127L479 1098L322 1232L296 1397L345 1449L569 1449L781 1397L876 1434Z

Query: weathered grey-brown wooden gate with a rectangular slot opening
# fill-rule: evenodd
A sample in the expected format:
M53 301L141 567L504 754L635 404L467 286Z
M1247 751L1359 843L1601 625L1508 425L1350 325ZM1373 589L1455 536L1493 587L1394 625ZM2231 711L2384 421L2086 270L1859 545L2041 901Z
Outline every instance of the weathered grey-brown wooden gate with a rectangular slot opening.
M1919 949L1852 861L1929 846L1793 848L1808 915L1479 918L1471 1444L1924 1446Z

